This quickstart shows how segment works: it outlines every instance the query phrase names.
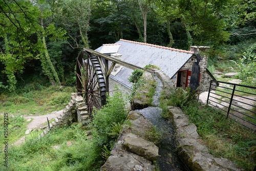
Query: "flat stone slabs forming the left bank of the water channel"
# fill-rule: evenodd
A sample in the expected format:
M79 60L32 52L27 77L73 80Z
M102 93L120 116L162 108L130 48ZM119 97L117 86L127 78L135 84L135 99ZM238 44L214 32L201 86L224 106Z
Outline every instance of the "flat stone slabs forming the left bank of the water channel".
M145 133L152 128L152 123L135 111L131 111L126 119L130 120L130 124L124 124L111 156L100 170L154 171L155 166L151 160L157 158L158 147L145 140Z

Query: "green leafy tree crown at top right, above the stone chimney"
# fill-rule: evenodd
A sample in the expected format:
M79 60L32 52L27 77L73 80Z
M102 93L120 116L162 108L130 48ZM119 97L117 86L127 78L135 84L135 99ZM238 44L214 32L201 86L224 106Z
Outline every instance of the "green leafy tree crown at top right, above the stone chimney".
M220 12L229 0L180 0L178 7L188 30L193 32L196 44L220 44L228 40L225 20Z

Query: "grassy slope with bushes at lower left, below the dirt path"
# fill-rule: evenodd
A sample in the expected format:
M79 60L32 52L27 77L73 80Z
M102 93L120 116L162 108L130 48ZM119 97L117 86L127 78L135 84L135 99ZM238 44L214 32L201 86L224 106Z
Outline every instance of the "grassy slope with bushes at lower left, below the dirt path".
M1 165L0 169L99 170L105 157L110 154L127 116L125 99L120 91L108 97L107 101L101 110L94 111L94 119L89 126L73 123L71 126L52 129L44 137L40 137L39 132L31 132L24 143L10 146L8 168ZM22 132L24 135L26 122L20 116L9 119L9 138L17 140L17 133ZM88 129L93 130L93 137L88 136ZM1 139L4 139L2 136Z

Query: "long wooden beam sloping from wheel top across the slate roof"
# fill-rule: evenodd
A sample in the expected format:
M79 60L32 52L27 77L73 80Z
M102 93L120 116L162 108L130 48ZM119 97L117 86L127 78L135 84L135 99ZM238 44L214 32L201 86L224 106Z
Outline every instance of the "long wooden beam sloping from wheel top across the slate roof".
M108 55L105 55L105 54L96 52L96 51L94 51L94 50L92 50L92 49L89 49L89 48L83 48L83 50L84 50L84 51L91 52L91 53L93 53L93 54L95 54L95 55L98 55L98 56L100 56L100 57L105 58L106 60L110 60L110 61L112 61L112 62L115 62L115 63L117 63L117 64L119 64L119 65L121 65L121 66L123 66L123 67L130 68L130 69L132 69L132 70L139 69L139 70L144 70L144 71L147 71L147 72L150 72L150 73L155 73L155 72L152 71L152 70L144 69L144 68L135 66L135 65L133 65L132 63L128 63L128 62L125 62L125 61L122 61L122 60L119 60L119 59L112 58L112 57L110 57L110 56L108 56Z

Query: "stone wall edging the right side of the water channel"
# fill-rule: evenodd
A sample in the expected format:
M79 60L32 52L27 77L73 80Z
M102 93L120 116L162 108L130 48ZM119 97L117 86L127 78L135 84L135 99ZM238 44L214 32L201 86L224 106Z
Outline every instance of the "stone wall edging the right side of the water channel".
M172 114L179 154L191 170L240 170L228 159L215 158L209 154L207 147L198 139L197 126L189 122L188 116L180 108L168 106L168 110Z

